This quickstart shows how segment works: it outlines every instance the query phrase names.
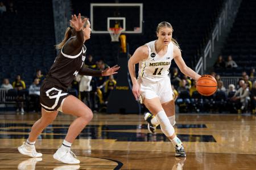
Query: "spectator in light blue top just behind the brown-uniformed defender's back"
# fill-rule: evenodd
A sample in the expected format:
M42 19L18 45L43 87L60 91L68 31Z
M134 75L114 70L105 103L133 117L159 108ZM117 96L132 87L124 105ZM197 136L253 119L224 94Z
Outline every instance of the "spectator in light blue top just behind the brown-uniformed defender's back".
M38 78L35 78L34 82L30 85L30 88L28 89L28 94L30 96L30 101L34 103L33 111L40 111L40 84Z

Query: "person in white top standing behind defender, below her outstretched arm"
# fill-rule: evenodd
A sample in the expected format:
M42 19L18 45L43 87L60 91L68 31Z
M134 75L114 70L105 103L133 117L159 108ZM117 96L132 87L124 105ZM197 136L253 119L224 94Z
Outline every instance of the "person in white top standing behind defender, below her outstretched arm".
M76 77L77 82L79 82L79 92L81 96L81 101L83 101L89 108L92 108L92 102L90 101L90 91L92 91L92 86L90 86L90 81L92 76L89 75L78 75Z

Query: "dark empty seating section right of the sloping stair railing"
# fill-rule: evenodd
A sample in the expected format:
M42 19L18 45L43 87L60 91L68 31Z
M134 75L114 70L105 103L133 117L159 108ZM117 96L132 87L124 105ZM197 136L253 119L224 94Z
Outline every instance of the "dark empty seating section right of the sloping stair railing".
M249 71L256 66L256 1L242 1L228 39L222 49L226 59L232 55L237 63L236 69L215 69L222 76L240 76L242 71Z

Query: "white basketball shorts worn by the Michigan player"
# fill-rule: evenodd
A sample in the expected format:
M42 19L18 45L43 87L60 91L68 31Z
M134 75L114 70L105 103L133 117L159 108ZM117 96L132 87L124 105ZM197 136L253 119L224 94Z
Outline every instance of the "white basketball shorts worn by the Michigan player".
M174 100L169 76L162 78L159 82L152 82L151 80L139 77L138 83L141 86L142 100L155 97L159 97L160 103Z

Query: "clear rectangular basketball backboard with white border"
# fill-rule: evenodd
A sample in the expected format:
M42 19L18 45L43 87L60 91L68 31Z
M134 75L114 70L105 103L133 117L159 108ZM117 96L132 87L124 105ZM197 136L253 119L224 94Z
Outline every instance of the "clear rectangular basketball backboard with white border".
M91 3L92 33L109 33L109 28L121 27L123 33L142 33L142 3Z

